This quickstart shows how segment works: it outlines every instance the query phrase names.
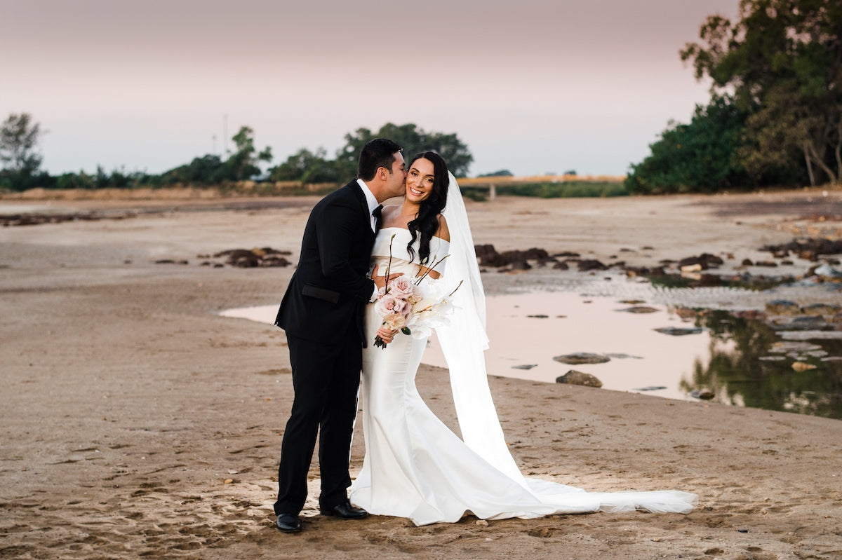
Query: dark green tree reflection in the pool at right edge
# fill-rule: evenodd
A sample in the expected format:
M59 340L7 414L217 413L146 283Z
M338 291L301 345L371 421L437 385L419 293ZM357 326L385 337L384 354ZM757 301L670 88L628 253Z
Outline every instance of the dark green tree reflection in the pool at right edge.
M842 341L785 345L765 322L727 311L704 311L695 321L711 336L709 360L695 363L685 392L710 389L715 399L759 409L842 419ZM814 369L796 371L802 362Z

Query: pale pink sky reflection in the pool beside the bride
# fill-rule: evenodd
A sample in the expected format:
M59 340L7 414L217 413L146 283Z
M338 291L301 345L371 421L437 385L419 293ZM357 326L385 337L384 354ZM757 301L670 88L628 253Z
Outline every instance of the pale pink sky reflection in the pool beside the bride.
M486 368L491 375L555 383L570 370L590 373L603 388L640 391L670 399L690 399L679 381L691 378L696 363L707 364L710 335L665 335L656 329L692 327L672 309L652 305L651 313L631 313L620 298L572 292L520 293L487 298ZM609 362L571 365L553 360L588 352ZM432 339L424 363L446 367ZM520 369L519 367L530 367Z

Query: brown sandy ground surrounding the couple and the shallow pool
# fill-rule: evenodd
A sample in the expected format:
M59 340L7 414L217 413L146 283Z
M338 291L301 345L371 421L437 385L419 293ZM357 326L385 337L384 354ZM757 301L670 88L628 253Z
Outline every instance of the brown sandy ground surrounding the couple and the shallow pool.
M686 490L696 510L415 527L326 518L310 503L304 531L281 534L271 505L292 396L285 335L218 313L277 303L293 267L201 263L267 246L296 262L317 197L148 195L0 198L0 214L93 213L0 228L0 557L842 557L842 421L495 371L524 473L589 490ZM708 252L732 255L723 270L736 269L770 258L765 244L842 237L842 193L821 189L466 202L477 244L633 266ZM483 280L507 293L571 274ZM445 370L422 367L418 387L454 425ZM352 473L362 456L358 423ZM317 476L314 461L314 489Z

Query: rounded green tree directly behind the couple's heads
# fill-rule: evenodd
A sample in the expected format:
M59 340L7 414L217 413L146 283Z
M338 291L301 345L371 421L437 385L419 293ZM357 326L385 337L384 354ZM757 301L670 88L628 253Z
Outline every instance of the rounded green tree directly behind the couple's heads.
M338 172L342 176L352 176L357 171L357 159L360 151L369 140L388 138L397 142L403 149L403 156L411 158L420 151L435 151L445 158L447 167L456 177L466 177L473 161L467 145L456 134L446 135L440 132L425 132L415 124L386 123L376 133L360 128L345 135L345 145L336 154Z

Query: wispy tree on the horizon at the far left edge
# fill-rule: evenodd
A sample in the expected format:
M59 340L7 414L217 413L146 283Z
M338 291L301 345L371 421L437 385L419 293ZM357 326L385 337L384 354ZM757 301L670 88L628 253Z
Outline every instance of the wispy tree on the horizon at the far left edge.
M8 116L0 127L0 180L16 190L29 187L41 166L41 156L35 151L41 134L40 124L28 113Z

